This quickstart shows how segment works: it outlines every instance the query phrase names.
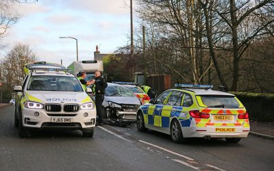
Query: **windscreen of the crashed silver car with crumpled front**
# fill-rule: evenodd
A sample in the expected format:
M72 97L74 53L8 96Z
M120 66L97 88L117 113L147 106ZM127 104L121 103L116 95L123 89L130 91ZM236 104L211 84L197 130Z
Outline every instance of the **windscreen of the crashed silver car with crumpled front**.
M128 96L133 97L134 94L125 86L108 86L105 89L105 96Z

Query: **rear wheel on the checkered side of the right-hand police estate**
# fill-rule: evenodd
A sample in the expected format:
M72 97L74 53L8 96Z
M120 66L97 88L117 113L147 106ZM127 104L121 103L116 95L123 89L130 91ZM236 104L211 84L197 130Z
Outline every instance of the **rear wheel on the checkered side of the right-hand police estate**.
M171 140L173 142L185 142L186 139L183 137L181 125L178 120L171 122Z

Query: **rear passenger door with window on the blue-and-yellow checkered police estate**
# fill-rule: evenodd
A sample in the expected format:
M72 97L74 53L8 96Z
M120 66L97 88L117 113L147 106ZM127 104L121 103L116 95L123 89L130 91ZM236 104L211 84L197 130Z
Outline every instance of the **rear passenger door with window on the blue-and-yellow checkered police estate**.
M162 116L160 118L161 127L169 129L170 118L173 116L179 117L182 111L182 98L184 93L181 91L174 90L162 109Z

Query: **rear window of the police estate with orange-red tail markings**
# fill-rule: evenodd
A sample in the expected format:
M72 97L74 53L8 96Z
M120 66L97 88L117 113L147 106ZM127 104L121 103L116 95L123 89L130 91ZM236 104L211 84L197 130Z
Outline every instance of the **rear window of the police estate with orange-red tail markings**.
M234 96L201 95L196 97L201 99L201 101L198 100L200 106L232 109L240 107L240 103Z

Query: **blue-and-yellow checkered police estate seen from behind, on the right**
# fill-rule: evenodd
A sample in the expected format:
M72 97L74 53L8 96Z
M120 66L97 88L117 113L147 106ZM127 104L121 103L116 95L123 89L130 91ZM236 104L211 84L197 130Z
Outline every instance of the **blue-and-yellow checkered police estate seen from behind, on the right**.
M176 84L138 109L137 129L171 135L173 142L186 137L224 137L237 143L249 133L247 110L234 94L212 90L211 85Z

